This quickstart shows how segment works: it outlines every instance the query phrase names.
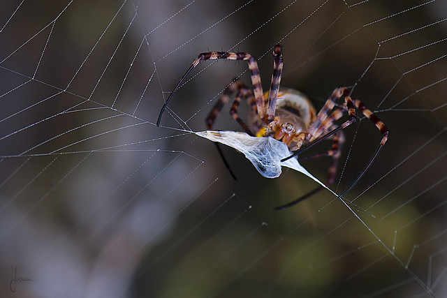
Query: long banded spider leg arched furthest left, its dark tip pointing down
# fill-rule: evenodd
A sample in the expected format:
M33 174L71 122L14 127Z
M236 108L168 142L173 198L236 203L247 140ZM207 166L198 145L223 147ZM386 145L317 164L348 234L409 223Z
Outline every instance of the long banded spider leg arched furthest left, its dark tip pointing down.
M186 73L183 75L183 77L179 80L177 85L175 86L174 90L169 95L168 99L166 100L165 104L161 108L159 119L156 121L156 126L160 125L161 117L163 116L163 112L166 110L166 107L168 107L168 103L170 99L175 94L175 91L179 89L180 85L184 81L187 75L191 73L191 70L195 68L200 61L205 60L215 60L215 59L226 59L226 60L243 60L247 61L249 64L249 69L251 72L251 83L253 84L253 90L254 90L254 97L256 98L256 107L258 108L258 114L261 119L264 118L265 114L265 104L263 100L263 87L261 85L261 76L259 75L259 68L258 68L258 62L254 57L251 56L251 54L244 53L244 52L205 52L198 55L196 60L194 60L193 64L189 66L188 70L186 70Z

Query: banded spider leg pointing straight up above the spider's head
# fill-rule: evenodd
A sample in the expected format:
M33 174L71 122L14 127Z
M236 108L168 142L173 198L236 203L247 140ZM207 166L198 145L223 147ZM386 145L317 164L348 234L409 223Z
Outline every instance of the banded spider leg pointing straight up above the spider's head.
M277 107L277 98L279 91L279 84L281 83L281 73L284 61L282 59L281 45L275 45L273 48L273 73L272 82L270 84L270 91L268 92L267 104L267 121L274 119L274 113Z

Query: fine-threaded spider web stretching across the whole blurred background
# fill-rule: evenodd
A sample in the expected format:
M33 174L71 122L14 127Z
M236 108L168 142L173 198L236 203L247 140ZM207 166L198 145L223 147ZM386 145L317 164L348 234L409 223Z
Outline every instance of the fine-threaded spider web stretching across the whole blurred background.
M3 1L0 4L2 297L445 297L445 1ZM343 199L190 131L272 47L281 85L320 108L351 87L390 129ZM223 107L215 128L241 131ZM244 118L247 107L242 104ZM381 140L346 128L342 193ZM330 142L312 153L326 151ZM325 180L329 158L303 160Z

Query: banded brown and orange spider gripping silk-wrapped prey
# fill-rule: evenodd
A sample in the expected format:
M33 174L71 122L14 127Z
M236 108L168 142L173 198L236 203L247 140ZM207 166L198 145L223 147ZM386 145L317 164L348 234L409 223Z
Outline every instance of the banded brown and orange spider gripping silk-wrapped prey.
M323 154L316 154L314 156L308 156L307 158L316 158L321 156L331 156L332 165L328 170L328 178L325 185L330 185L335 180L337 173L337 163L340 156L340 150L343 141L344 134L343 129L357 120L356 108L362 112L372 123L379 129L382 134L379 147L376 149L374 155L369 160L365 168L360 172L357 179L349 186L349 188L342 193L346 194L351 188L360 180L360 178L368 170L369 166L378 156L379 151L382 149L388 140L389 131L385 124L376 117L376 115L367 109L360 100L352 100L349 96L349 89L346 87L338 87L332 95L326 100L325 104L319 110L318 114L312 103L299 91L288 88L279 89L279 83L281 82L281 73L283 68L283 57L281 45L275 45L273 48L273 74L270 84L270 91L263 93L261 86L261 76L259 75L258 63L251 54L245 52L204 52L198 55L193 64L186 70L182 79L178 82L177 86L170 94L166 103L160 111L159 119L156 125L159 126L161 116L164 110L168 106L170 98L179 88L180 84L184 81L186 76L191 70L196 67L200 61L214 60L214 59L227 59L227 60L244 60L248 62L251 72L251 83L253 84L253 91L247 87L240 80L233 80L228 87L223 91L222 96L214 105L210 114L206 118L207 127L212 130L212 126L217 117L217 114L221 111L223 105L228 101L228 98L233 94L236 94L233 101L233 105L230 107L231 116L237 121L238 124L251 136L256 137L274 137L274 139L284 142L290 151L293 151L291 156L284 158L282 161L286 161L288 158L297 156L305 149L318 144L322 140L332 139L332 147ZM339 98L344 99L342 105L336 105ZM245 122L237 114L237 108L240 105L242 99L247 100L250 107L249 120L250 125L247 126ZM340 119L344 113L347 112L348 119L343 124L337 126L335 121ZM303 145L306 145L303 147ZM303 147L303 148L302 148ZM223 160L225 163L226 161ZM227 165L228 167L228 165ZM297 200L277 207L276 209L282 209L290 207L296 204L300 200L308 198L310 195L316 193L321 188L317 188L311 191L307 195L298 198ZM340 195L340 197L342 196Z

